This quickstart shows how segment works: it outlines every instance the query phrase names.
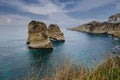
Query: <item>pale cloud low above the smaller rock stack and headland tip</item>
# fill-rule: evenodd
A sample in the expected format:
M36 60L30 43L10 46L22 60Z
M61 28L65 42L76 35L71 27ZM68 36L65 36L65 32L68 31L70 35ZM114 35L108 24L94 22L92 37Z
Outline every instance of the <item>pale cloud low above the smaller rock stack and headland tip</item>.
M64 13L54 13L54 14L48 15L48 19L43 21L47 22L48 24L51 24L51 23L58 24L61 27L76 27L76 26L79 26L80 24L89 22L91 20L94 20L94 19L81 20L81 19L72 18Z

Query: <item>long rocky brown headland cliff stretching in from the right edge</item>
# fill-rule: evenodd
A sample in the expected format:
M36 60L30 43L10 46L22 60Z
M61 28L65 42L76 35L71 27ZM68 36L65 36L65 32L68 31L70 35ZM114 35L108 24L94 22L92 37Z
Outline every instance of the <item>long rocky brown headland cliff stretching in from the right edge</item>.
M117 20L116 20L117 18ZM120 15L114 15L109 17L108 22L92 21L87 24L83 24L79 27L72 28L71 30L82 31L87 33L106 33L120 38Z

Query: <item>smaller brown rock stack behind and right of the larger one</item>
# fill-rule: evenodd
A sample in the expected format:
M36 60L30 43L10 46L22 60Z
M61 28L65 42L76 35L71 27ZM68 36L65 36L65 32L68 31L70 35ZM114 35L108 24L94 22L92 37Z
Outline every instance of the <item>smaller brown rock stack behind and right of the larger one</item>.
M64 34L61 32L60 27L57 24L50 24L47 29L47 35L51 40L65 41Z

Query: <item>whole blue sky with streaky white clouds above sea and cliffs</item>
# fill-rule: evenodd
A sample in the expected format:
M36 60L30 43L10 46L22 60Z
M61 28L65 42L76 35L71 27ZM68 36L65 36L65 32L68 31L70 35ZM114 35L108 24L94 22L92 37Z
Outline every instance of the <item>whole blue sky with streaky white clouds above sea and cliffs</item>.
M105 21L120 13L120 0L0 0L0 26L26 26L31 20L73 27Z

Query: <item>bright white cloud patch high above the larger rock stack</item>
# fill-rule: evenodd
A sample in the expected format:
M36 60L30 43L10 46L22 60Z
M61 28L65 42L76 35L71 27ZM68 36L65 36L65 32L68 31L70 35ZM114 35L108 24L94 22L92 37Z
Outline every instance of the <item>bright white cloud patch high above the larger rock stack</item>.
M40 14L40 15L47 15L55 12L60 12L60 10L52 4L47 4L45 6L31 5L31 6L23 6L20 8L24 12L30 12L34 14Z

